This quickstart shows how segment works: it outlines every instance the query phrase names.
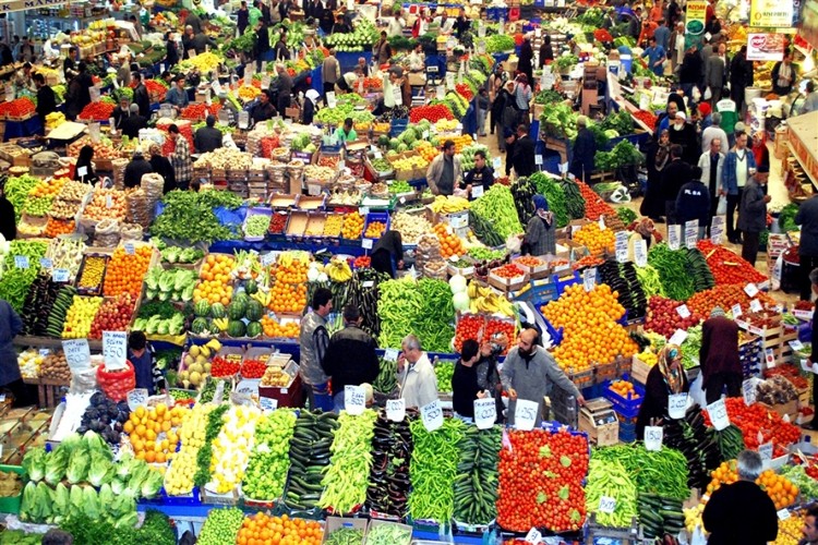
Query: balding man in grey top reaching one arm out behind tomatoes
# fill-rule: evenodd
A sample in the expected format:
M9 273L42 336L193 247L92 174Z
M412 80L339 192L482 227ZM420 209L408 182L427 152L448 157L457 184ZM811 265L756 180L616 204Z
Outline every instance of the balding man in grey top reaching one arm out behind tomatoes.
M508 421L514 424L514 411L517 399L533 401L540 405L536 425L543 417L543 398L551 391L552 384L573 395L580 405L585 405L585 398L554 358L542 347L538 346L539 334L536 329L525 329L520 332L517 346L508 351L501 380L503 389L508 393Z

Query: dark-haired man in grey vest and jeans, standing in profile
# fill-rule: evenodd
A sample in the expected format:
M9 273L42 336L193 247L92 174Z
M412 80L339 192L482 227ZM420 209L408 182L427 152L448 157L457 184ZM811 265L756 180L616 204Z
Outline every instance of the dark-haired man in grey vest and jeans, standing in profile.
M298 374L301 377L301 392L304 407L311 410L329 411L333 398L329 395L329 377L324 374L322 362L329 344L326 317L333 310L333 292L318 288L312 296L310 311L301 319L299 346L301 358Z

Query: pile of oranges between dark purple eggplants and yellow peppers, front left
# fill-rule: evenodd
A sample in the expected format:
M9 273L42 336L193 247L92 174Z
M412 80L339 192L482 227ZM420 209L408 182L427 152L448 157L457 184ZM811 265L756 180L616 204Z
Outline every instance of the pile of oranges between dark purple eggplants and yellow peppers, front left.
M165 403L149 409L137 407L122 426L130 436L134 456L148 463L170 460L179 443L179 426L189 412L187 407L168 409Z

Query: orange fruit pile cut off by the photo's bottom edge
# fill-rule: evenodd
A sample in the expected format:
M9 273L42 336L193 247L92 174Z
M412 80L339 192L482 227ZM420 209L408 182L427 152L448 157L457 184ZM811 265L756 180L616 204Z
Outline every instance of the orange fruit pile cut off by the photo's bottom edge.
M238 545L317 545L324 530L317 521L291 519L287 514L270 517L257 512L245 517L236 538Z

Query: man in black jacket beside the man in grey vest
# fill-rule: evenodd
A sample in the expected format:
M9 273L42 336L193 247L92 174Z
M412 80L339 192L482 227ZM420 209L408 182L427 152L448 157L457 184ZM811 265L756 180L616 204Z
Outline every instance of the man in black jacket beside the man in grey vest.
M375 341L361 329L361 322L357 305L344 307L345 327L333 334L321 362L321 367L332 380L330 393L336 413L345 408L346 386L371 384L381 371Z

